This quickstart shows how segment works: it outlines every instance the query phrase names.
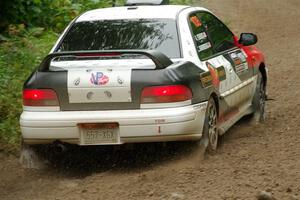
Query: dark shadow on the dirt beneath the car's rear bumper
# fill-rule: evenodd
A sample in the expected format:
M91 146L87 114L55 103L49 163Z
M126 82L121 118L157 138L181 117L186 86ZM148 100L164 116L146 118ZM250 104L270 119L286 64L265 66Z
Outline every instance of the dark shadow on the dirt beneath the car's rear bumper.
M42 153L49 169L66 176L88 176L104 171L134 171L161 165L189 156L198 148L196 142L144 143L121 146L68 145L57 154L51 148Z

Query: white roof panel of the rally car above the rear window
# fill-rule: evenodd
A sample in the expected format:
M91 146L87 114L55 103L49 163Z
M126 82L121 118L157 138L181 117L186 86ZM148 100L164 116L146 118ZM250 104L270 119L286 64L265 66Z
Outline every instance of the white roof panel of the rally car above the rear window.
M178 13L190 6L154 5L154 6L123 6L91 10L79 16L76 22L114 20L114 19L176 19ZM203 8L203 10L205 10Z

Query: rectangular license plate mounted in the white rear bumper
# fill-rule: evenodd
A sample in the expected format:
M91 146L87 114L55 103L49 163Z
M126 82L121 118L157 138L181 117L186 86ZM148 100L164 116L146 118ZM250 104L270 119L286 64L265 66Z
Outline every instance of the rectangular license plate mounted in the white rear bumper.
M118 123L78 124L81 145L119 144Z

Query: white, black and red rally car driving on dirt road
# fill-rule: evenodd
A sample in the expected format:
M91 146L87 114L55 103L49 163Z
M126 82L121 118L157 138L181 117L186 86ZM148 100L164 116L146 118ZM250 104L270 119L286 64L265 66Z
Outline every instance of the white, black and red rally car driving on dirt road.
M85 12L24 84L23 144L201 140L215 150L243 116L265 118L256 42L202 7L129 1Z

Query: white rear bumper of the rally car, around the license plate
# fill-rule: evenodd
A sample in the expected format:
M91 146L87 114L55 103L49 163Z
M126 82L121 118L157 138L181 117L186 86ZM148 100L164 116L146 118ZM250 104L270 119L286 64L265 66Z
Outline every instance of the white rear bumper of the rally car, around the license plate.
M113 111L23 111L22 137L27 144L60 140L80 144L80 123L119 124L118 144L197 140L201 138L207 103L160 109ZM99 144L101 145L101 144Z

